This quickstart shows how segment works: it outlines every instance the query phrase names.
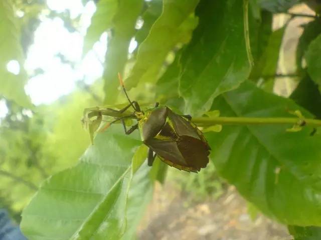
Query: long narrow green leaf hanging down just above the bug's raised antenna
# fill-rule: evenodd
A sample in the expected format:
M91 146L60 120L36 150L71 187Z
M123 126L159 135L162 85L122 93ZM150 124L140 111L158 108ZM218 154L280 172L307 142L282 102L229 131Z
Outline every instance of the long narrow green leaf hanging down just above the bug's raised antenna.
M124 70L129 42L136 31L135 24L142 4L143 0L119 0L118 10L113 18L113 35L108 41L103 74L105 104L115 103L119 92L117 73Z

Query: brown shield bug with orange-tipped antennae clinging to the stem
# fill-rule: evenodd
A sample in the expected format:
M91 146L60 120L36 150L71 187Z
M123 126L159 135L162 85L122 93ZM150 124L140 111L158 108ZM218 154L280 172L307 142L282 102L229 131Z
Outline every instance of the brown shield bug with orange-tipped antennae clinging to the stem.
M138 128L141 140L149 147L147 157L149 166L157 155L170 166L180 170L198 172L206 167L211 148L203 133L191 122L191 116L179 115L168 106L159 106L158 103L153 108L142 111L137 101L129 99L119 74L118 77L129 104L120 110L110 108L108 110L119 114L132 107L134 111L123 117L115 117L115 120L107 123L106 127L121 121L126 134ZM128 130L124 121L126 118L137 120L137 123Z

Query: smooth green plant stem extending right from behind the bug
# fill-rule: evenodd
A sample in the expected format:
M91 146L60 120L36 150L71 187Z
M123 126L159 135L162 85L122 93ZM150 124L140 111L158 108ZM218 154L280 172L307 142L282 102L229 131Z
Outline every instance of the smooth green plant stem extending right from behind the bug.
M321 120L298 117L193 117L192 121L199 126L208 126L215 124L230 125L253 125L253 124L302 124L309 126L321 126Z

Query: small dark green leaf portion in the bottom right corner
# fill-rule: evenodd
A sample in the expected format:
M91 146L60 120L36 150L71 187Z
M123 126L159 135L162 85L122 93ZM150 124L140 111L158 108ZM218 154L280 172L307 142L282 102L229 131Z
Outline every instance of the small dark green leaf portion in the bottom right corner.
M289 232L294 236L293 240L319 240L321 239L321 227L317 226L288 226Z

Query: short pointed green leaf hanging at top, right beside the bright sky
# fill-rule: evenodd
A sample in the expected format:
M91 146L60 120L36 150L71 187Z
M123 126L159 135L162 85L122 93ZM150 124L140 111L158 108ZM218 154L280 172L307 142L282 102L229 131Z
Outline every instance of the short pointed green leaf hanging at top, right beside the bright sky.
M104 31L113 26L112 19L117 11L118 0L99 0L96 7L84 39L83 55L93 47Z

